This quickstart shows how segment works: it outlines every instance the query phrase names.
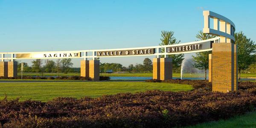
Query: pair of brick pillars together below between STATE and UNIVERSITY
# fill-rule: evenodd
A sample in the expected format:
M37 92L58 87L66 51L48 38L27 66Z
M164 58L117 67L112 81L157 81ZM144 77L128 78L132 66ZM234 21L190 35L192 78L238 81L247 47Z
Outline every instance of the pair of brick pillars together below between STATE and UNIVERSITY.
M153 58L153 79L172 79L172 58Z

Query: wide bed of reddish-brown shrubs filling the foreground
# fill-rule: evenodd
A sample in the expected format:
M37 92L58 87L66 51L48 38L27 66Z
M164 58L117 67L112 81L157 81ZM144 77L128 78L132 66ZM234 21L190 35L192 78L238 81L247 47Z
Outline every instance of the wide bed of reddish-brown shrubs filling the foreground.
M253 110L256 106L255 84L239 84L244 89L230 93L212 93L199 88L186 92L119 93L95 99L59 97L48 102L18 102L18 99L5 98L0 100L0 124L4 128L167 128L194 125Z

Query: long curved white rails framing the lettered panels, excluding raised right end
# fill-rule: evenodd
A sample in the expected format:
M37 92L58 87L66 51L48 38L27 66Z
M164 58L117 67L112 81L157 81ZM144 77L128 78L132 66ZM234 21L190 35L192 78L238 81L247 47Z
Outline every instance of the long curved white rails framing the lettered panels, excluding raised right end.
M155 55L157 58L159 58L161 55L172 55L172 54L183 54L183 53L193 53L193 52L204 52L204 51L211 51L212 48L210 46L211 43L219 42L219 37L211 38L204 41L195 41L195 42L189 42L189 43L180 43L180 44L173 44L173 45L163 45L163 46L152 46L152 47L134 47L134 48L122 48L122 49L95 49L95 50L78 50L78 51L52 51L52 52L0 52L1 54L1 60L15 60L15 59L58 59L58 58L84 58L84 60L87 60L87 58L92 58L93 60L95 58L107 58L107 57L131 57L131 56L152 56ZM201 47L200 49L195 50L188 50L188 51L180 51L180 52L167 52L168 47L186 47L189 45L195 45L195 44L201 44L201 45L207 45L207 47ZM137 50L137 49L154 49L154 54L143 54L143 55L105 55L105 56L97 56L97 52L99 51L122 51L122 50ZM164 52L162 52L161 49L165 49ZM62 54L62 53L78 53L81 52L82 54L80 56L66 56L66 57L42 57L44 54ZM90 53L91 55L88 55ZM23 57L23 58L17 58L17 55L30 55L30 57ZM11 57L5 57L6 55L9 55ZM41 57L40 57L41 55Z

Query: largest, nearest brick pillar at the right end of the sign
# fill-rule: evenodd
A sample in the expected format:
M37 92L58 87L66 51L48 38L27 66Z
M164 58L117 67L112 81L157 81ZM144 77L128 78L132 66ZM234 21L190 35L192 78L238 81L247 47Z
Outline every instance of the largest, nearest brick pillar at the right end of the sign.
M234 44L213 43L212 91L229 92L234 89Z

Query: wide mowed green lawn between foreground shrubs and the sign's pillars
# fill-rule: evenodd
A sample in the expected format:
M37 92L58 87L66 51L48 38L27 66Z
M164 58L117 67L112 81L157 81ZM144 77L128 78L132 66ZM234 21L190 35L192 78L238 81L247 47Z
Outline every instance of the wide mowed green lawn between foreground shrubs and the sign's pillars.
M186 91L190 85L148 82L3 82L0 83L0 99L7 95L8 99L20 97L26 99L48 101L55 97L96 98L116 93L135 93L146 90Z

